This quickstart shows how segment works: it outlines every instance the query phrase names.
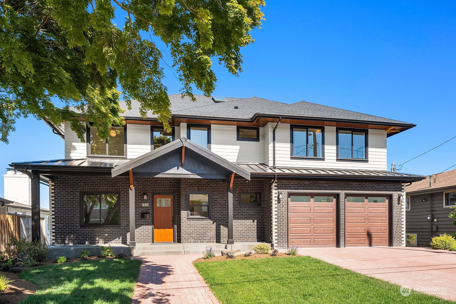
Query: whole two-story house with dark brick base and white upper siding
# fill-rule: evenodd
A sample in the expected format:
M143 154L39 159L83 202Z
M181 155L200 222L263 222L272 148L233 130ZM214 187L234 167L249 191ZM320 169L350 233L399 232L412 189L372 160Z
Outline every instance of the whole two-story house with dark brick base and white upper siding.
M34 206L33 185L48 180L51 244L404 246L404 184L423 177L388 172L386 142L414 124L305 101L196 98L170 96L171 131L135 103L107 140L49 124L65 159L11 166L32 176Z

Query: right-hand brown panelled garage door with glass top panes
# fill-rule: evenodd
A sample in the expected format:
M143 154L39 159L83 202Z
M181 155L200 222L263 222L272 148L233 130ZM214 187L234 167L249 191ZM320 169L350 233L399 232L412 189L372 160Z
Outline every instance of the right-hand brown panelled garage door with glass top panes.
M388 197L347 196L345 246L388 246Z

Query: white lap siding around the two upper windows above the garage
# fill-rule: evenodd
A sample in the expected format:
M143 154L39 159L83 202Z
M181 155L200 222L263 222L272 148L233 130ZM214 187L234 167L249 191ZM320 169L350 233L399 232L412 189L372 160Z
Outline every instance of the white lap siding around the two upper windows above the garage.
M325 130L325 160L295 159L290 154L290 124L280 124L275 133L275 164L277 167L334 168L352 170L387 170L386 132L369 130L368 161L338 161L336 146L336 127ZM272 155L272 144L270 144Z

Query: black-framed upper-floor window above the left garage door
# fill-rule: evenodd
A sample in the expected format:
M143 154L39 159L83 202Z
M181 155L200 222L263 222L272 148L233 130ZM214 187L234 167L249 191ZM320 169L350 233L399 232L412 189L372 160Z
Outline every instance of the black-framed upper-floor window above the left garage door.
M323 157L323 128L291 126L291 156Z

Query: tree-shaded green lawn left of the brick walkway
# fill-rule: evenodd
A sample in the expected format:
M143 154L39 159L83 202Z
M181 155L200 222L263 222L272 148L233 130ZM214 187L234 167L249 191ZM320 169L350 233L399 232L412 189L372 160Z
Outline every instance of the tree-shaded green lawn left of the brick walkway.
M130 304L141 262L104 259L27 269L20 277L39 290L21 304Z

